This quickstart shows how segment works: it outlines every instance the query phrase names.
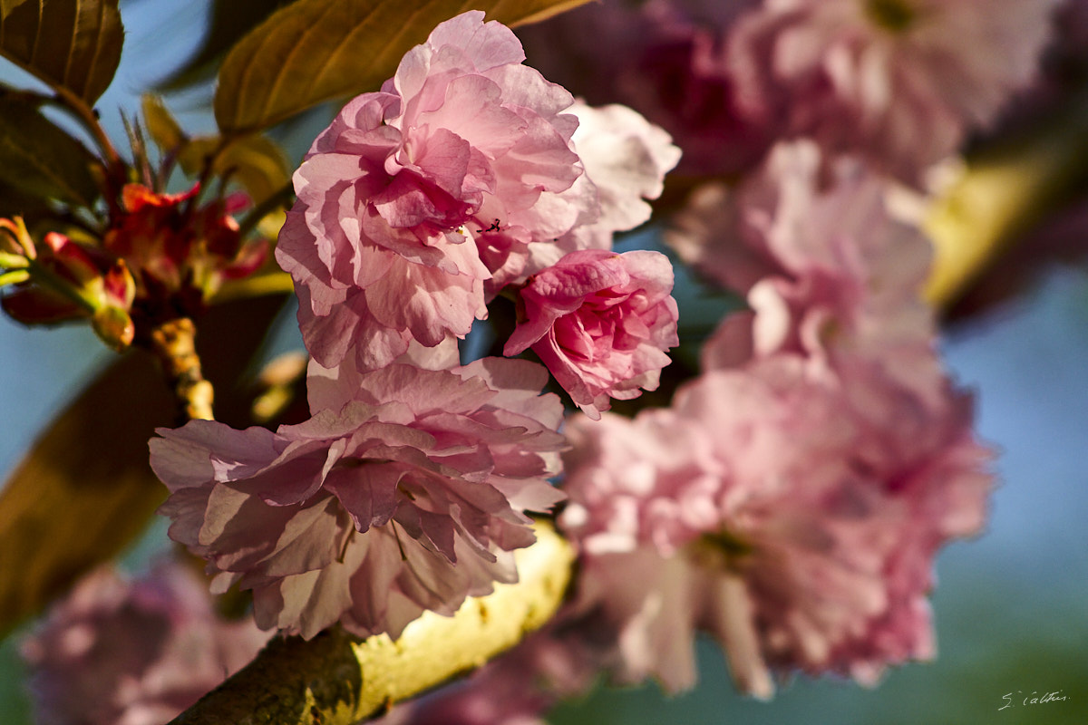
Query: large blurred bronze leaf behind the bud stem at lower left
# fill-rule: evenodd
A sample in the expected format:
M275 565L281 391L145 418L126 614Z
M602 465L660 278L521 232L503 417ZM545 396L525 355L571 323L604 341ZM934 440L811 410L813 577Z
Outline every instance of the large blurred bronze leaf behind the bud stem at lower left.
M217 387L217 414L249 425L252 396L238 385L283 296L213 308L198 349ZM0 637L120 552L166 490L147 441L174 403L151 357L134 351L99 375L38 439L0 491Z

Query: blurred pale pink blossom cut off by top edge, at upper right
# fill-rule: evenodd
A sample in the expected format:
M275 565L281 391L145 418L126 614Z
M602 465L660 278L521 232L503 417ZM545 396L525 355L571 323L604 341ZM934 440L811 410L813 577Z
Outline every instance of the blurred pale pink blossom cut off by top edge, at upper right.
M730 77L752 122L919 185L1036 71L1055 0L766 0Z

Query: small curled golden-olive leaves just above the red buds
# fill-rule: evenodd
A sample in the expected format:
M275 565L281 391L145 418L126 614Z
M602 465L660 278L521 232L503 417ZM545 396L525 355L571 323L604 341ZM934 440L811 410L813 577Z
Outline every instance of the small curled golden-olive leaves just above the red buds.
M200 173L207 158L219 149L219 137L195 138L177 157L186 174ZM242 185L254 204L277 192L290 180L287 160L280 146L267 136L243 136L219 151L212 173Z

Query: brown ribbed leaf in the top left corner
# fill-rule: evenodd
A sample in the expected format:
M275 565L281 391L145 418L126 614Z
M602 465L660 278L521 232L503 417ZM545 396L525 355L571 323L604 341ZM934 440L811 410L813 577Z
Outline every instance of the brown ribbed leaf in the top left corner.
M113 80L118 0L0 0L0 54L94 104Z

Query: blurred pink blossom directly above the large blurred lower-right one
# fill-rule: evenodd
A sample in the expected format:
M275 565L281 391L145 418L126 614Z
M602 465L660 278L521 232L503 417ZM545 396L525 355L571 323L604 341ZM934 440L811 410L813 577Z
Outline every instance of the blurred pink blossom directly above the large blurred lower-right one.
M881 177L840 162L824 186L823 166L815 143L780 143L735 191L704 187L676 217L669 243L751 308L722 323L704 366L796 352L827 375L864 360L939 398L936 326L920 297L929 241L893 213Z

